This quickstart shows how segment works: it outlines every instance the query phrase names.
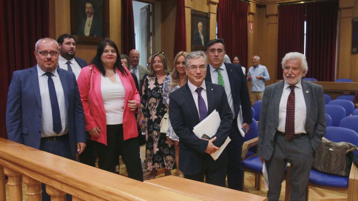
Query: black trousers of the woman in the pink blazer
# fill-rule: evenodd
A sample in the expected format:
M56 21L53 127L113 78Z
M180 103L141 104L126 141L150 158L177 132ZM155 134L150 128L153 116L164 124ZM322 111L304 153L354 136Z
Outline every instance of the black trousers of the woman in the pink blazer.
M107 146L99 142L96 145L99 168L114 173L121 155L129 178L143 181L138 138L124 141L123 124L107 125Z

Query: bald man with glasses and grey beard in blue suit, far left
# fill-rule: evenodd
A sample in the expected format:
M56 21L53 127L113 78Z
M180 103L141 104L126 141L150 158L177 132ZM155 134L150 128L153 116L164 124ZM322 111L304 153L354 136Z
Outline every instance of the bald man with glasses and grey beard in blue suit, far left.
M57 68L58 44L35 45L37 65L13 73L6 105L11 141L74 160L86 146L86 128L74 74ZM43 186L44 187L44 186ZM43 199L49 196L43 188Z

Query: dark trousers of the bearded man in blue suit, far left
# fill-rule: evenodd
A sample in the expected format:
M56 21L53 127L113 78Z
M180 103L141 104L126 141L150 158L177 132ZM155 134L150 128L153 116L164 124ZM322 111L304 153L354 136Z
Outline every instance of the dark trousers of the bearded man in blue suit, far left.
M63 138L55 140L55 141L47 141L44 138L41 139L40 150L52 153L57 156L62 156L64 158L74 160L74 156L72 156L72 154L71 154L71 148L69 145L68 134L66 134L64 136L66 136L66 137L63 137ZM42 200L50 201L51 198L46 193L46 187L45 187L44 183L41 184L41 188L42 188ZM69 194L66 194L66 200L71 201L72 196Z

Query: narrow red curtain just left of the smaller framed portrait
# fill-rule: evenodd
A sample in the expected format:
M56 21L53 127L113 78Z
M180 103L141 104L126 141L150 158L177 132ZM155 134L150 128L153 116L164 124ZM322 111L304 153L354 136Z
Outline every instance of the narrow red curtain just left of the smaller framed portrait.
M180 51L187 51L187 34L185 30L185 0L178 0L176 3L174 54Z

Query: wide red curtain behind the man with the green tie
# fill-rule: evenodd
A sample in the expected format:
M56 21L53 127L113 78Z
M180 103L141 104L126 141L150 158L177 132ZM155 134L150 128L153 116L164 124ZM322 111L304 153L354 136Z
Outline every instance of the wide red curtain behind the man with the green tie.
M218 38L225 41L226 54L232 59L238 55L247 68L247 11L248 3L238 0L220 0L218 6Z

